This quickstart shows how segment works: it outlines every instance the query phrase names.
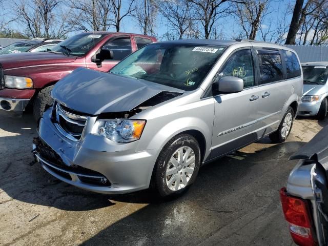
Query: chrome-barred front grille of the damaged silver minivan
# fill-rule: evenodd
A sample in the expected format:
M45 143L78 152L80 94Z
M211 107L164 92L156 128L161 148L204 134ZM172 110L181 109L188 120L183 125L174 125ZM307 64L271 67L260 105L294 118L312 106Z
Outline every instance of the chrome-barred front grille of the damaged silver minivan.
M52 120L56 128L71 140L79 140L83 133L88 117L60 106L56 102L53 106Z

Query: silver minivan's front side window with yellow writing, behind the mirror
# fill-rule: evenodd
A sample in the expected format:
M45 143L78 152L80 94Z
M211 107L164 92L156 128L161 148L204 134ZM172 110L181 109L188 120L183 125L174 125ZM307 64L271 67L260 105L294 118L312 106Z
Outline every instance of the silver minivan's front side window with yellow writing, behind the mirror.
M240 50L234 53L219 73L219 79L225 76L242 78L244 88L255 86L251 50Z

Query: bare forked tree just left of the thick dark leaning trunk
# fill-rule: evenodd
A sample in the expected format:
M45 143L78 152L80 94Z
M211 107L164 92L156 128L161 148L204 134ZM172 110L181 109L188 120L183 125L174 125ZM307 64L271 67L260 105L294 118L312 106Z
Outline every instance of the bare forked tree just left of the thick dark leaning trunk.
M270 0L245 0L234 4L234 16L247 39L254 40L266 14ZM270 12L271 13L271 12Z

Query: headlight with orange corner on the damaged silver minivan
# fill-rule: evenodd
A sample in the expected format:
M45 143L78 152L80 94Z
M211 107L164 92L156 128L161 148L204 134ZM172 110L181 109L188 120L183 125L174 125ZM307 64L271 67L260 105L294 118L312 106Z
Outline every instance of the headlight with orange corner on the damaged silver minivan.
M146 120L99 119L93 132L114 142L132 142L140 138L145 125Z

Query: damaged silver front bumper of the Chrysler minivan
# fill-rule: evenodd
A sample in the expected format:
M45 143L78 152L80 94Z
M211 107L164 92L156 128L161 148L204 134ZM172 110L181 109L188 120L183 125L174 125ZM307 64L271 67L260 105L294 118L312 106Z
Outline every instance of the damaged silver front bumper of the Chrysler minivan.
M118 144L92 134L90 126L86 126L83 138L72 141L56 129L50 112L40 119L40 140L33 145L36 159L47 172L98 193L122 194L149 187L158 150L136 152L138 141ZM89 124L92 121L95 119ZM40 150L40 145L46 146L46 152ZM49 152L53 157L48 156Z

